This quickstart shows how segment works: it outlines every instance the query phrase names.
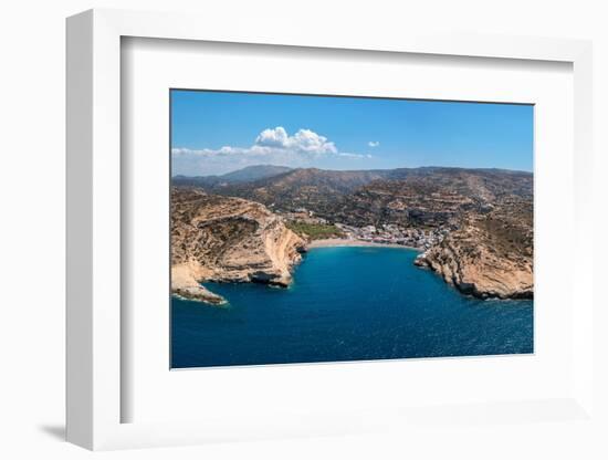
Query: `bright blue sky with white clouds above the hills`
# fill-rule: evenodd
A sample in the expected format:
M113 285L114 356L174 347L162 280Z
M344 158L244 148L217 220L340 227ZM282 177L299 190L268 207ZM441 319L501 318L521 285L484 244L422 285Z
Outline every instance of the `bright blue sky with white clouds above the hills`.
M533 169L533 106L171 91L172 174L274 164Z

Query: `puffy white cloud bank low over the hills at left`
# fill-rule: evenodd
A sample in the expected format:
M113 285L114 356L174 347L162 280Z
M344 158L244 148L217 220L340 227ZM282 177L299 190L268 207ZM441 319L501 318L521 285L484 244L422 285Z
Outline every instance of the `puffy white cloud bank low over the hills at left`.
M311 129L298 129L290 136L282 126L262 130L250 147L174 148L171 154L174 174L188 176L223 174L260 164L306 167L332 158L348 160L371 157L339 151L327 137Z

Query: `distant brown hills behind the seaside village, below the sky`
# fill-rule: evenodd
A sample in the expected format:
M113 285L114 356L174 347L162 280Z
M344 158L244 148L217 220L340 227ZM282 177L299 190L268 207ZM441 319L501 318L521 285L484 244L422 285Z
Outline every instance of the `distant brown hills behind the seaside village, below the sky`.
M175 178L174 184L195 185L182 178ZM198 186L210 194L251 199L279 211L307 209L353 226L438 226L512 196L532 199L532 174L500 169L307 168L241 184Z

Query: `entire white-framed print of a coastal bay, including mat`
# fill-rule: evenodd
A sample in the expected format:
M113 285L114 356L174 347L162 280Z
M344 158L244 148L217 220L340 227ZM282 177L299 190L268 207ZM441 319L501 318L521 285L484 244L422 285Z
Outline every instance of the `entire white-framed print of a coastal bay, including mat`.
M239 25L67 21L69 440L587 419L589 43Z

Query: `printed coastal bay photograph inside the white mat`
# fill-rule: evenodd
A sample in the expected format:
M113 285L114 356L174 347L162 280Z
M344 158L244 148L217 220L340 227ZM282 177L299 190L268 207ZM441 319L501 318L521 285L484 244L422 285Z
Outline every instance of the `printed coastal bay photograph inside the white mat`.
M170 368L534 353L534 105L170 90Z

